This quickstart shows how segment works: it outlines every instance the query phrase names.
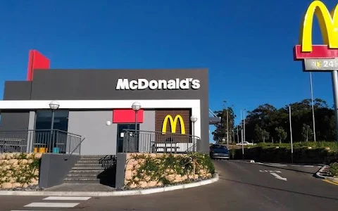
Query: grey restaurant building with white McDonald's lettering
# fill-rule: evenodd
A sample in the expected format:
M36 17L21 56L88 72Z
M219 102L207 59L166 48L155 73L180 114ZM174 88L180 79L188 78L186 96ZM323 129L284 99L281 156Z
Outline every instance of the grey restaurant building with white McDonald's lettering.
M54 129L85 138L82 155L120 152L123 130L194 134L208 151L208 70L34 69L27 81L6 81L1 131L51 128L49 103L58 101ZM34 76L34 78L33 78ZM111 122L108 124L107 122Z

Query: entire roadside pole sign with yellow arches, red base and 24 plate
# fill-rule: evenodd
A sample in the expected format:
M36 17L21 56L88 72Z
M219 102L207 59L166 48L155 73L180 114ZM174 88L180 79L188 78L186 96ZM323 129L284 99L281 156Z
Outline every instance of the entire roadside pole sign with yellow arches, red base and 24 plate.
M315 16L322 34L321 45L313 45L312 41ZM330 12L322 1L311 2L303 15L299 45L294 46L294 60L303 60L303 71L331 72L338 141L338 4Z

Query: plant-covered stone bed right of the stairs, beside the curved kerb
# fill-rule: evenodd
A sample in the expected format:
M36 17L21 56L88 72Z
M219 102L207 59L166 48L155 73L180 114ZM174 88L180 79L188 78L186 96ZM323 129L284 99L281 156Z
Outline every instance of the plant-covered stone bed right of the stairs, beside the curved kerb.
M127 158L125 186L136 188L188 183L195 179L211 178L214 173L211 158L202 153L135 153Z

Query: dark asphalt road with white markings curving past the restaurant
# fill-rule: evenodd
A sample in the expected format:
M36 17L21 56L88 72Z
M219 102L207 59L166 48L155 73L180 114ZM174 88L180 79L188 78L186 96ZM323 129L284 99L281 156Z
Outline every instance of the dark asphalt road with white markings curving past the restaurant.
M337 210L338 186L313 177L319 169L316 166L265 166L226 160L216 160L215 165L220 179L207 186L82 200L0 196L0 210ZM61 203L69 207L24 207L30 203Z

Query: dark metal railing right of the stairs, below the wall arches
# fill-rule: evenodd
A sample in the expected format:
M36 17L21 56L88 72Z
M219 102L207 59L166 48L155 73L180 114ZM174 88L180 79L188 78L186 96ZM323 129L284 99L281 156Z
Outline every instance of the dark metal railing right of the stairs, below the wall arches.
M125 129L123 153L188 153L198 151L199 137Z

